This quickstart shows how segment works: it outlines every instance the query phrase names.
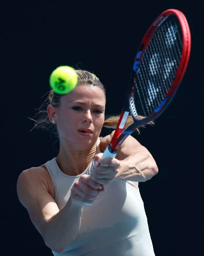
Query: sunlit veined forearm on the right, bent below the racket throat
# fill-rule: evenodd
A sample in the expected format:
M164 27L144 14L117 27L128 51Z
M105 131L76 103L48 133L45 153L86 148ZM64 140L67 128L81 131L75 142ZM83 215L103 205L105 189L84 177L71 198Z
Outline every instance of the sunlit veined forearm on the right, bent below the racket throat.
M119 172L114 181L130 180L142 182L150 180L157 174L158 168L155 160L149 153L135 152L120 161Z

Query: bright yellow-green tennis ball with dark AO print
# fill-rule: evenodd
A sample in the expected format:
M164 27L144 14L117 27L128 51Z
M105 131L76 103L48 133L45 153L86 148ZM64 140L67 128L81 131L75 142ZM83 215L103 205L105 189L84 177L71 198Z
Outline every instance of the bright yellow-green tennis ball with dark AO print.
M60 66L50 75L50 87L58 94L71 92L77 82L77 73L74 68L69 66Z

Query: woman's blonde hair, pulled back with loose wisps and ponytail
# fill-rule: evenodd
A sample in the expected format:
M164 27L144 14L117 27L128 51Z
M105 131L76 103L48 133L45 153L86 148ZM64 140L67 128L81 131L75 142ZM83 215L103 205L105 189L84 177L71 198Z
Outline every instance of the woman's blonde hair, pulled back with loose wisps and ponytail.
M77 86L86 84L90 87L92 86L97 86L101 88L101 90L104 92L104 95L106 97L106 89L104 85L99 81L98 77L95 76L93 73L87 71L87 70L81 70L81 69L76 69L77 72L77 77L78 77L78 83ZM38 113L33 117L29 118L35 122L34 128L36 129L43 129L43 130L48 130L55 134L57 137L59 136L58 131L57 131L57 125L53 125L47 115L47 106L52 105L52 106L57 106L60 104L60 99L62 95L55 93L53 90L50 90L48 92L48 97L47 99L43 102L43 104L40 106L38 109ZM45 109L46 108L46 109ZM34 119L35 118L35 119ZM103 126L106 128L111 128L115 129L118 121L119 121L120 115L116 116L109 116L105 119ZM141 118L144 118L141 116ZM133 124L133 118L132 116L128 116L127 122L125 124L125 127L128 127L130 124ZM148 124L154 124L152 121L149 122ZM144 127L145 125L143 125ZM139 132L139 129L136 129L137 132ZM140 133L140 132L139 132Z

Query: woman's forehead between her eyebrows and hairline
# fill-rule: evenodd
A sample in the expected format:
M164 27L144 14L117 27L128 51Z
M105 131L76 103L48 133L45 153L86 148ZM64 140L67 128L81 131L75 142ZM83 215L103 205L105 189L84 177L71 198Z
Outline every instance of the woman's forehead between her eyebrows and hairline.
M105 93L98 86L79 85L62 97L62 101L64 102L73 102L76 100L91 101L101 105L106 104Z

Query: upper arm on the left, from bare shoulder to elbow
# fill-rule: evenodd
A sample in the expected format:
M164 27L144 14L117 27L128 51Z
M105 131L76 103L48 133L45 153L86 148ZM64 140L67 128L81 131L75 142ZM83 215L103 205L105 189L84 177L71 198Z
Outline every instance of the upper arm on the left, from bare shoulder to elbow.
M21 204L27 209L35 228L43 236L46 223L59 208L47 188L49 173L41 167L21 172L17 181L17 194ZM48 180L48 182L50 182Z

